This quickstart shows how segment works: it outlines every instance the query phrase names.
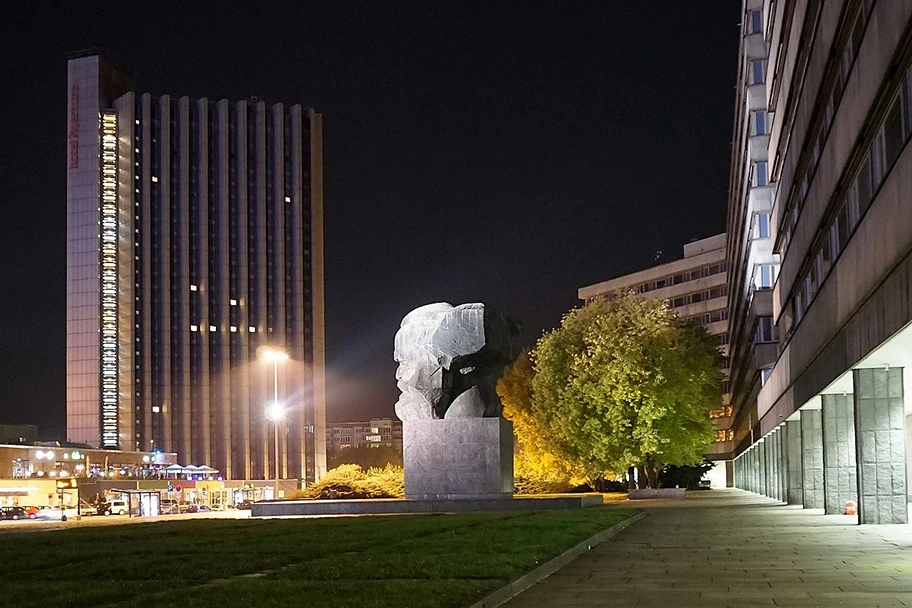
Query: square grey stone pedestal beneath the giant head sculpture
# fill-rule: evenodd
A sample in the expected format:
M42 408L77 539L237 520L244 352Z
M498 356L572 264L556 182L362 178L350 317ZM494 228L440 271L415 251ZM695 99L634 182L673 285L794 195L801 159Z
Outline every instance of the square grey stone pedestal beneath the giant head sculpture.
M513 423L508 420L406 420L402 448L406 498L513 496Z

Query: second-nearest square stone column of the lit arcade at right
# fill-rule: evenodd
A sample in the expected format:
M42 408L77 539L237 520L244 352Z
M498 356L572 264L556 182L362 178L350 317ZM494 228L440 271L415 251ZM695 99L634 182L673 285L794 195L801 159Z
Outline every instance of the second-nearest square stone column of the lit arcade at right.
M823 407L823 506L827 514L845 513L858 500L855 464L855 406L851 395L821 395Z

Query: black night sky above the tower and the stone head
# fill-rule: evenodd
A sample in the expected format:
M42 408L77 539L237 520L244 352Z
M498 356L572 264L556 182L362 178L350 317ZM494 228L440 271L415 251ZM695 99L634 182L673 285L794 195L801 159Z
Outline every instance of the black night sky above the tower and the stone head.
M577 288L724 230L736 2L12 4L0 422L45 437L66 428L68 51L103 47L142 92L324 110L330 420L392 414L419 305L485 302L531 344Z

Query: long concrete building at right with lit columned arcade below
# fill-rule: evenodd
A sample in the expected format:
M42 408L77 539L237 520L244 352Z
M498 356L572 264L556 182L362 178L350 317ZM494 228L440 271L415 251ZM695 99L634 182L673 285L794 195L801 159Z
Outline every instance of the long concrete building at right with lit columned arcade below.
M743 8L728 214L736 483L907 523L912 0ZM764 264L772 289L757 283Z

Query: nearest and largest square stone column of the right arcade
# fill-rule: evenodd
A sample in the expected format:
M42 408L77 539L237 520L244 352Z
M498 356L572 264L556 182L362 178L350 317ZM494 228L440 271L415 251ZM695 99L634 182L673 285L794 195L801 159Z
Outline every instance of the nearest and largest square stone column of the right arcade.
M858 522L908 523L902 368L856 369L852 377L861 499Z

